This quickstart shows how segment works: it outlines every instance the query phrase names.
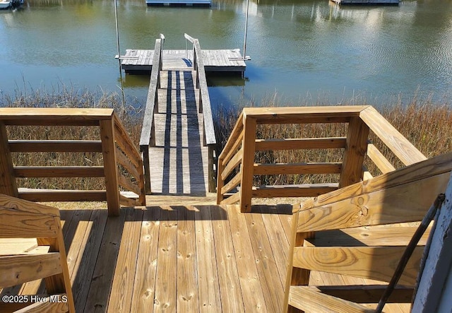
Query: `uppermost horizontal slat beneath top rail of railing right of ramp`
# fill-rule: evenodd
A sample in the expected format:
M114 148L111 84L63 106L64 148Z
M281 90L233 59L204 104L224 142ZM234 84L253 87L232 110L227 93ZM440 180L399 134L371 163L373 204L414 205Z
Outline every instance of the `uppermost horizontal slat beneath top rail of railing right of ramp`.
M345 137L256 139L256 151L345 148Z

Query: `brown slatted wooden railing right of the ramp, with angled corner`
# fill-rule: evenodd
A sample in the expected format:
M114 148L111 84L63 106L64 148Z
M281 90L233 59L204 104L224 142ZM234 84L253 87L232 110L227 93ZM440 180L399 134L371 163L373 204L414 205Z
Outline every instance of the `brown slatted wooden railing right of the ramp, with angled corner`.
M258 138L259 124L346 123L347 136L330 138ZM364 157L386 173L394 166L369 143L369 131L399 158L410 165L422 160L420 153L371 106L245 108L218 157L217 202L239 202L241 210L251 210L252 198L319 196L334 189L372 177L363 169ZM331 149L344 150L342 163L255 163L259 150ZM338 183L275 185L254 187L254 175L335 174ZM232 193L232 191L237 190Z

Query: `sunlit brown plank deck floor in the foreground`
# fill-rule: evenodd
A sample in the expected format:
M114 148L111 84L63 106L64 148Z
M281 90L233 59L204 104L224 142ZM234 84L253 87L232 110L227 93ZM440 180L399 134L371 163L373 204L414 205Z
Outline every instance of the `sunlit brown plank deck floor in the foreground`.
M108 217L101 203L61 210L76 312L283 312L292 206L240 213L237 205L152 199L168 204L124 208L119 217ZM34 247L20 245L28 253ZM312 285L353 279L311 273ZM36 292L43 292L39 280L0 290ZM390 304L384 312L409 307Z

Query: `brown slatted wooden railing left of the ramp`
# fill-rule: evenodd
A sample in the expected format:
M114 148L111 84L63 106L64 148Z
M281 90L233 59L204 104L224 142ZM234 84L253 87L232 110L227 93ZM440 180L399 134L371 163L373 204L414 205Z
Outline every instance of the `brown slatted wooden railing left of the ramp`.
M15 140L8 126L88 126L100 128L100 140ZM145 206L143 160L112 109L0 108L0 193L30 201L107 201L109 215L120 205ZM103 166L20 166L11 153L102 153ZM105 177L105 190L20 189L16 178ZM135 199L122 196L119 186Z

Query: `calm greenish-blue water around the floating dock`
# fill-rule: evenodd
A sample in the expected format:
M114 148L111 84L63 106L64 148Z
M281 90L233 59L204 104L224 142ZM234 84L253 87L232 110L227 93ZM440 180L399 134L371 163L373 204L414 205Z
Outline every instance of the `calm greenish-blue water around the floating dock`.
M25 0L0 11L0 90L38 88L119 92L145 102L147 76L120 75L114 1ZM204 49L243 47L245 1L211 8L118 2L121 54L153 49L159 33L167 49L184 49L183 34ZM274 93L283 102L381 103L420 90L452 98L452 1L403 1L399 6L347 7L328 0L250 1L244 79L210 78L214 105L258 102Z

